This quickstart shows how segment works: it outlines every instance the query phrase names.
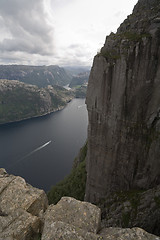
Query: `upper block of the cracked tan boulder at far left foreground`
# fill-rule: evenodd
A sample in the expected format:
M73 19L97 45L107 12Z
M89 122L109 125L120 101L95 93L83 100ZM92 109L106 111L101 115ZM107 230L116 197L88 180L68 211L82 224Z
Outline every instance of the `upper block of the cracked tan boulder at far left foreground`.
M43 190L32 187L19 176L8 175L0 171L0 210L9 214L17 208L22 208L32 215L38 216L41 210L46 210L48 200Z

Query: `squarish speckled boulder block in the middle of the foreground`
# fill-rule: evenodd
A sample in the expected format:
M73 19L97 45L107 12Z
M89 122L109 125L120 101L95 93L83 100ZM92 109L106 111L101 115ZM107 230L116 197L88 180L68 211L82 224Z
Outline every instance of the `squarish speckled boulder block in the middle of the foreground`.
M73 225L75 228L83 229L86 232L97 233L100 228L101 211L91 203L63 197L56 205L50 205L47 209L42 239L46 239L48 228L53 231L52 227L55 229L55 226L59 226L60 223L53 225L56 222Z

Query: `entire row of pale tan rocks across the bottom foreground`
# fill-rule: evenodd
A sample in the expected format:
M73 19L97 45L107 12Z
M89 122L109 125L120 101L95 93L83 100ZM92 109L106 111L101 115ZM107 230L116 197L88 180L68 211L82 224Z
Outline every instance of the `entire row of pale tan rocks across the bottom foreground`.
M102 228L100 209L63 197L48 206L43 190L0 169L0 240L160 240L140 228Z

